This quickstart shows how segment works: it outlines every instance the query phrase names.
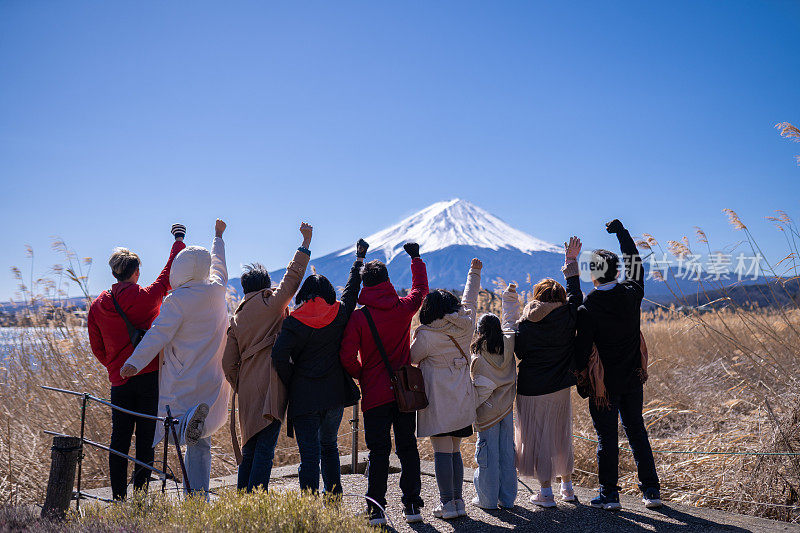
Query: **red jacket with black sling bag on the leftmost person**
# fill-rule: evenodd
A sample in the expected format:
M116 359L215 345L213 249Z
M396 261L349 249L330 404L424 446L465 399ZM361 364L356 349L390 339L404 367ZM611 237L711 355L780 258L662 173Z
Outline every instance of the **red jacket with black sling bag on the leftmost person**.
M152 285L140 287L129 281L115 283L111 291L117 299L128 320L139 329L150 329L161 311L161 301L169 286L169 270L178 252L186 248L182 241L175 241L167 260L167 265ZM128 380L119 375L119 369L133 353L128 328L117 313L108 291L103 291L89 307L89 343L92 353L108 370L108 380L112 387L125 384ZM158 357L154 358L139 375L158 370Z

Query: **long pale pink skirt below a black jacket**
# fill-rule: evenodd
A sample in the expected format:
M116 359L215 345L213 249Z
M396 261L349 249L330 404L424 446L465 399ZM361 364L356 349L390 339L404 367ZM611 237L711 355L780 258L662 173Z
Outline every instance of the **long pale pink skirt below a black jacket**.
M572 475L570 389L541 396L517 395L514 445L520 475L539 481Z

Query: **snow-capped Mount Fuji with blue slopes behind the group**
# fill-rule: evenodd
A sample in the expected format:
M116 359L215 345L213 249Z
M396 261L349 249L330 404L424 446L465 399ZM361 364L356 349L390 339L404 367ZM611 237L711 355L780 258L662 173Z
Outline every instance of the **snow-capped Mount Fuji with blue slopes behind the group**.
M403 244L417 242L428 270L431 288L461 290L473 257L483 261L482 286L492 289L494 281L525 282L543 277L561 279L564 264L560 246L545 242L513 228L480 207L460 199L437 202L397 224L364 239L369 243L367 261L386 263L392 284L400 289L411 287L410 260ZM355 260L355 244L319 258L310 266L336 287L344 286ZM270 272L273 283L285 269ZM309 268L308 272L311 272ZM231 285L241 292L238 279Z

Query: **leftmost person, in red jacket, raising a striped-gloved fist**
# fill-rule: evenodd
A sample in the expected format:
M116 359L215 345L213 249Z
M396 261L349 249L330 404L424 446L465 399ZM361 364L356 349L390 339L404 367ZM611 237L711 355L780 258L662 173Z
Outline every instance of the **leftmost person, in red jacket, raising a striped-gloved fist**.
M119 371L133 353L133 344L128 328L114 305L116 299L128 320L137 329L147 330L161 310L161 301L170 290L169 272L172 260L186 248L183 238L186 228L181 224L172 226L175 242L169 259L158 278L147 287L138 285L139 256L126 248L117 248L108 264L117 283L110 291L103 291L89 307L89 343L92 353L108 370L111 382L111 403L125 409L156 415L158 411L158 358L154 359L136 376L125 379ZM113 295L113 298L112 298ZM152 465L154 458L153 438L156 423L141 417L127 415L117 410L111 412L112 450L127 454L131 437L136 430L136 459ZM115 500L122 500L128 488L128 460L113 453L108 456L111 492ZM142 489L150 479L150 471L141 466L134 468L133 488Z

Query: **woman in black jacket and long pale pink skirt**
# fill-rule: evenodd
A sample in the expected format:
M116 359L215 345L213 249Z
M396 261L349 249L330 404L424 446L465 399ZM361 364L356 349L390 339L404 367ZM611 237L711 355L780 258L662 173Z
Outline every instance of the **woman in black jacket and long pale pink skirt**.
M572 403L575 385L575 335L583 303L578 255L581 241L564 243L566 290L547 278L533 288L518 325L514 351L519 359L517 420L514 442L521 476L539 481L531 503L555 507L551 483L561 478L561 499L574 502L572 470Z

